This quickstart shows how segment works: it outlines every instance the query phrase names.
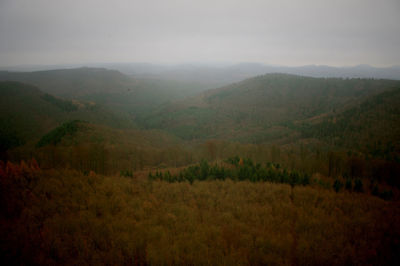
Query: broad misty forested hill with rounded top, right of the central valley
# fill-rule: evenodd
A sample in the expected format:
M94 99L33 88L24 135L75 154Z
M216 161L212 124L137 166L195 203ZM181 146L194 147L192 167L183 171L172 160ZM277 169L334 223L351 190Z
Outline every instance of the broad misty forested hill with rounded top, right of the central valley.
M400 81L266 74L169 105L142 123L185 139L273 141L291 138L296 121L341 112L396 87Z

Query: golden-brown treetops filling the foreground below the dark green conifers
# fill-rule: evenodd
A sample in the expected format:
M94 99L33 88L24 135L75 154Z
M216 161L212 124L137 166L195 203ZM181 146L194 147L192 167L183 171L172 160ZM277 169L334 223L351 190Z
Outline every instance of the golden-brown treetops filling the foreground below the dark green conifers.
M19 206L17 214L1 217L3 261L363 265L398 259L398 202L366 194L231 180L150 182L141 173L136 179L40 175L14 185L18 197L3 198L5 206Z

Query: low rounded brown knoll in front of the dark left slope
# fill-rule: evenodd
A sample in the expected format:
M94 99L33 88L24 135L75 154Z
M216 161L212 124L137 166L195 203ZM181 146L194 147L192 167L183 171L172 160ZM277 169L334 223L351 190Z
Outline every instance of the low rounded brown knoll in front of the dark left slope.
M21 151L34 156L43 168L102 174L193 162L182 142L165 132L116 129L81 121L61 124L44 134L35 147L9 151L9 158L17 159Z

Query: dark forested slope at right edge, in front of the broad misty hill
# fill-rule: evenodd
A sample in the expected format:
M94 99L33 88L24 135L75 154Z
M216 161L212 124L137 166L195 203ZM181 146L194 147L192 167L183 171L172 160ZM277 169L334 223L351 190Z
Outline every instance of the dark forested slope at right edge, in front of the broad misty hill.
M343 112L305 121L300 127L304 137L358 149L374 157L399 160L400 87L370 97Z

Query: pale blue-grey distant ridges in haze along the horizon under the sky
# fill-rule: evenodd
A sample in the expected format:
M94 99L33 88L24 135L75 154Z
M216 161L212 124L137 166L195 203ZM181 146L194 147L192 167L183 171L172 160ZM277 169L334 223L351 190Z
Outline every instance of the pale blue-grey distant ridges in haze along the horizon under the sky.
M78 68L82 66L115 69L134 77L196 81L204 85L209 84L208 86L213 86L214 88L267 73L286 73L309 77L400 79L400 66L398 65L391 67L374 67L367 64L334 67L328 65L284 66L252 62L237 64L185 63L175 65L156 63L87 63L54 66L3 67L1 69L27 72Z

